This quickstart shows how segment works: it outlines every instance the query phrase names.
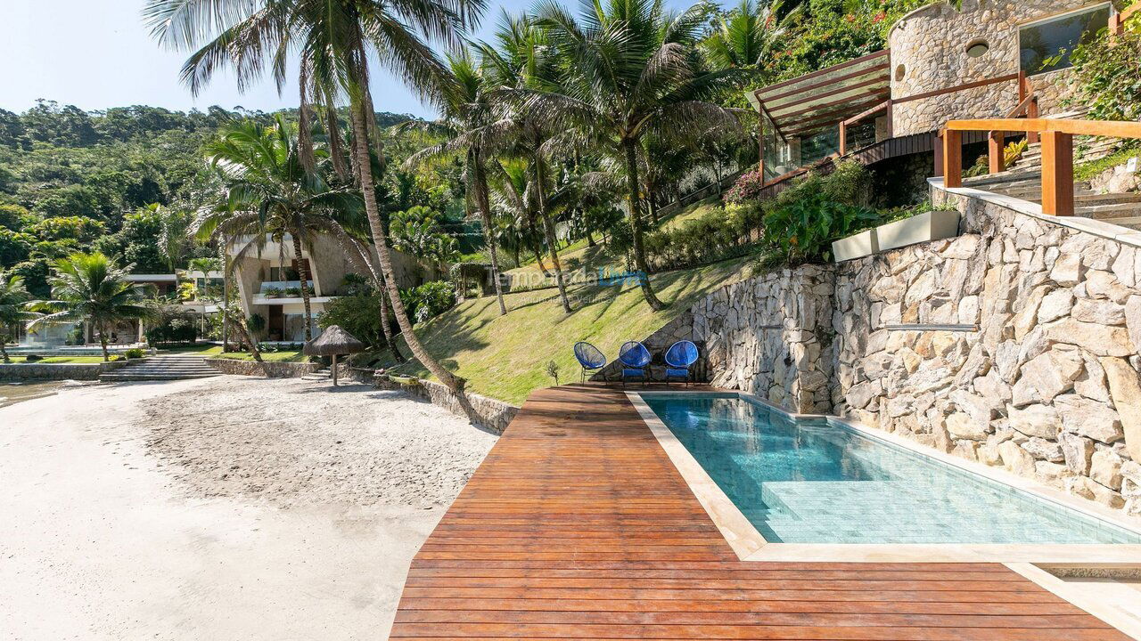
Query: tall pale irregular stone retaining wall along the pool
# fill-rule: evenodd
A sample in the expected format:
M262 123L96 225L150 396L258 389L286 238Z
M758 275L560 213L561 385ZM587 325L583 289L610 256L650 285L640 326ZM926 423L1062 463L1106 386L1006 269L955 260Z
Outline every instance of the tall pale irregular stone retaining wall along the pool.
M961 236L698 301L710 380L1141 516L1141 249L932 189Z

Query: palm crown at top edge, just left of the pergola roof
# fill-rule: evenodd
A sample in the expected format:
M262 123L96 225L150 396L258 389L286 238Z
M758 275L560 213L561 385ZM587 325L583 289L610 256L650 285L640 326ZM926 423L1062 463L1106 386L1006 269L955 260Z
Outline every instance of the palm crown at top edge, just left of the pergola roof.
M803 8L800 5L786 10L780 0L741 0L728 16L717 17L713 33L701 43L702 51L715 68L756 68Z

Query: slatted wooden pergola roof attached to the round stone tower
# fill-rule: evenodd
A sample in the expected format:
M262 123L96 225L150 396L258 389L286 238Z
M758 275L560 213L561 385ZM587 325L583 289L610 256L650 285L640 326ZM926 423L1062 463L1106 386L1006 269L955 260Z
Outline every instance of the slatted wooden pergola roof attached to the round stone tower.
M748 94L753 108L783 138L815 133L890 97L888 49Z

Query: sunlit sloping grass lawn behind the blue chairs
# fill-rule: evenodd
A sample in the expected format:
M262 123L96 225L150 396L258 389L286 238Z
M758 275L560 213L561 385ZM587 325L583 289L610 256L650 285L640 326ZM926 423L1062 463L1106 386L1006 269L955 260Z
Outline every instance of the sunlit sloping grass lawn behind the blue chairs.
M424 323L416 334L446 367L468 379L468 389L518 405L533 390L555 384L547 375L550 360L559 367L560 383L578 380L572 351L576 341L589 341L613 359L623 342L645 339L701 295L742 277L748 260L654 275L658 298L671 303L657 313L637 285L582 285L570 290L570 315L563 313L556 290L508 294L507 316L499 315L494 297L485 297ZM390 355L385 356L381 364L393 366ZM415 362L391 371L428 375Z

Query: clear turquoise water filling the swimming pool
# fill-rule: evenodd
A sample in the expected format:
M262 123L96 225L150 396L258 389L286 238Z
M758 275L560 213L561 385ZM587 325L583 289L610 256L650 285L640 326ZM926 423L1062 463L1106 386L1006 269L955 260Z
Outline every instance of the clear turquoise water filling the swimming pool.
M767 541L1141 543L1087 517L824 420L744 398L642 399Z

